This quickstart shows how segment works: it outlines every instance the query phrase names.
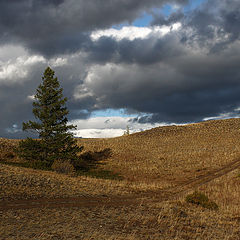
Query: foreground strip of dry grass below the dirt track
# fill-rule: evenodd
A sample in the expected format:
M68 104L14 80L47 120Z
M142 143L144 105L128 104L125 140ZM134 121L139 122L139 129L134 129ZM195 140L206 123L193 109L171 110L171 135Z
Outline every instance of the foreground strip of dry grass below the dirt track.
M182 202L134 207L9 210L2 239L239 240L239 220Z

